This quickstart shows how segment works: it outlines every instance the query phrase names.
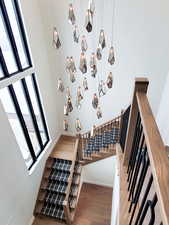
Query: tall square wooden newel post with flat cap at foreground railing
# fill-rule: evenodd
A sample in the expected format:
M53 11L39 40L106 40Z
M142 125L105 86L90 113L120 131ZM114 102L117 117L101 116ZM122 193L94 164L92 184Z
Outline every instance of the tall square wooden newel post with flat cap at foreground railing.
M131 104L126 143L124 148L124 158L123 158L124 166L127 166L129 162L130 153L131 153L132 144L133 144L135 126L137 122L137 115L139 110L138 104L137 104L136 92L142 92L146 94L148 89L148 84L149 84L149 81L147 78L135 79L134 94L133 94L133 100Z

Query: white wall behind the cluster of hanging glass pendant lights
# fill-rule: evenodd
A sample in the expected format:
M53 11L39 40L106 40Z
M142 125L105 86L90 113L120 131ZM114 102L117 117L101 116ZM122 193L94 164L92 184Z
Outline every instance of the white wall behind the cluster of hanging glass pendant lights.
M126 108L131 101L133 93L134 78L146 76L150 80L149 100L156 115L161 98L162 88L168 71L169 58L169 2L166 0L116 0L115 20L114 20L114 46L116 53L116 64L111 67L107 63L108 47L112 39L112 12L113 0L97 0L96 14L94 17L93 32L87 34L84 29L85 12L88 0L74 0L75 13L81 35L87 35L89 49L86 53L87 60L92 51L95 51L98 44L98 36L101 28L105 29L107 38L107 48L103 51L103 60L98 62L99 75L106 79L109 71L114 75L114 86L107 95L101 98L103 118L97 120L96 111L91 106L93 93L97 91L98 79L90 76L90 71L86 77L89 82L89 91L84 93L84 100L81 110L74 110L68 118L70 123L70 133L74 133L74 122L80 118L83 131L89 130L93 124L101 124L120 114L121 109ZM104 5L105 2L105 5ZM43 15L46 40L50 46L49 59L51 69L55 76L60 76L64 80L65 86L69 86L72 92L73 105L75 104L76 89L82 85L84 75L78 71L77 82L72 84L65 72L66 56L75 58L76 66L79 67L80 45L73 42L72 26L68 23L67 0L46 1L40 0L39 6ZM153 6L153 7L152 7ZM62 42L59 51L51 48L52 29L56 26ZM56 65L59 62L59 65ZM65 96L59 94L62 99L62 106L65 103ZM62 116L63 118L63 116ZM108 159L109 160L109 159ZM86 179L98 182L96 174L103 170L108 173L109 168L99 167L99 163L86 168ZM96 169L97 168L97 169ZM103 169L104 168L104 169ZM95 171L95 172L94 172ZM97 171L97 172L96 172ZM90 176L93 174L94 176ZM102 180L102 182L106 183ZM109 183L109 181L108 181ZM107 184L108 184L107 183Z

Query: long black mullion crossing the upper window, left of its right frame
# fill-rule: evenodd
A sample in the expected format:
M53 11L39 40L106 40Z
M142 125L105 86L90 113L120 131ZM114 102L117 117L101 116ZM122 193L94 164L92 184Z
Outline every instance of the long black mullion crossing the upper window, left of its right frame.
M12 31L12 28L11 28L11 24L10 24L10 20L9 20L9 17L8 17L8 13L7 13L7 10L6 10L4 0L0 0L0 6L1 6L3 17L4 17L4 21L5 21L5 24L6 24L6 28L7 28L7 31L8 31L9 39L10 39L10 42L11 42L11 45L12 45L12 48L13 48L13 53L15 55L16 64L18 66L19 71L22 71L22 64L21 64L21 61L20 61L20 58L19 58L18 49L17 49L17 46L16 46L15 38L14 38L14 35L13 35L13 31Z

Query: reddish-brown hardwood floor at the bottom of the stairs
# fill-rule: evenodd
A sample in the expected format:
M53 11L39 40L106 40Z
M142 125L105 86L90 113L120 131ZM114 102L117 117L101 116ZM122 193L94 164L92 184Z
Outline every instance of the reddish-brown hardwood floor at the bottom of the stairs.
M112 188L84 183L72 225L110 225L112 191ZM32 225L60 225L60 223L52 219L36 218Z

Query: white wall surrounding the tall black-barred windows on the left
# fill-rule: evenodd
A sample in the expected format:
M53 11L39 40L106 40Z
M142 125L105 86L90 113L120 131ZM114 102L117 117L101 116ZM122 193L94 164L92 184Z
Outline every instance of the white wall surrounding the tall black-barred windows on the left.
M22 0L25 24L30 40L32 55L45 115L51 135L51 143L41 155L40 162L29 175L15 136L0 103L0 225L28 225L42 176L45 160L61 133L59 103L56 99L56 83L50 71L44 39L43 26L37 1Z

